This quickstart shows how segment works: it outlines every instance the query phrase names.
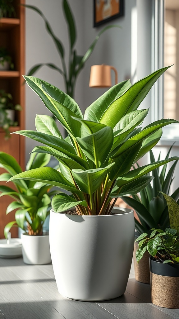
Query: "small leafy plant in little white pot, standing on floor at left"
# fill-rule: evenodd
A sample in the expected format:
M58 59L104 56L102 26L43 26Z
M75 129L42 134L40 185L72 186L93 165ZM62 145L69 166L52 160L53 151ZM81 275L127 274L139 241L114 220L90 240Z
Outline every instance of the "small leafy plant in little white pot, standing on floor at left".
M26 171L36 167L44 167L50 160L49 154L31 154L26 166ZM16 159L5 152L0 152L0 167L7 172L0 175L0 181L22 172ZM47 167L44 167L46 169ZM9 222L4 228L4 236L11 227L20 227L24 234L21 235L23 260L27 264L46 264L51 262L49 235L43 235L43 224L50 213L51 196L56 191L51 191L52 185L39 182L13 181L15 189L0 185L0 197L10 196L13 201L7 207L6 214L15 209L15 220Z

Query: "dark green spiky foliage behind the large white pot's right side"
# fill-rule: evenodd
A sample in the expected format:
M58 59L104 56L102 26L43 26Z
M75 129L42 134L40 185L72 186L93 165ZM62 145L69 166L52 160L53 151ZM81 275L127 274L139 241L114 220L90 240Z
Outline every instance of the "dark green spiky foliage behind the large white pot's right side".
M150 126L152 127L153 124ZM160 124L159 124L160 125ZM147 127L148 130L149 126ZM146 145L144 141L143 145ZM146 147L144 146L144 149ZM172 146L170 147L168 154L166 155L167 160L170 154ZM121 149L119 149L120 151ZM160 157L159 157L160 159ZM153 163L155 161L152 150L150 150L150 161ZM140 190L140 195L132 194L132 198L123 197L125 203L130 205L137 213L137 216L140 219L140 223L135 219L135 228L139 234L147 232L151 228L161 228L163 231L169 226L169 215L168 207L164 197L161 193L169 194L170 187L173 181L173 174L177 164L177 160L172 164L171 168L167 173L167 163L163 166L161 172L159 173L158 168L152 171L152 185L148 184L146 188ZM141 168L137 164L138 168L135 168L135 173L138 172ZM155 168L155 167L154 167ZM132 173L131 173L132 174ZM159 191L161 193L159 193ZM162 194L163 194L162 193ZM179 188L171 195L173 200L179 200ZM174 225L172 228L175 228Z

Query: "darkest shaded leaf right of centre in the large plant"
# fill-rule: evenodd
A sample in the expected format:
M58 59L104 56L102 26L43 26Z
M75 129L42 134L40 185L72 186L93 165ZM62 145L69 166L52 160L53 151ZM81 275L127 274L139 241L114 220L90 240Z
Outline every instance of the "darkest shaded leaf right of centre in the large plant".
M140 146L141 144L134 145L132 148L129 148L120 156L115 158L115 164L109 172L109 178L111 181L114 181L116 178L130 170L134 162L134 159L136 158L140 150Z

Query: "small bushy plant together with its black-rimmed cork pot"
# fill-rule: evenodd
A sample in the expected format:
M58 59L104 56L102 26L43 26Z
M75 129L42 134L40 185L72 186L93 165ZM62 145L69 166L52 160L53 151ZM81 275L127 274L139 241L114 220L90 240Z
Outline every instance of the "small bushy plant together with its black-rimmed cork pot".
M137 262L148 251L150 261L151 298L154 305L179 309L179 205L167 194L169 225L163 229L152 228L139 236Z

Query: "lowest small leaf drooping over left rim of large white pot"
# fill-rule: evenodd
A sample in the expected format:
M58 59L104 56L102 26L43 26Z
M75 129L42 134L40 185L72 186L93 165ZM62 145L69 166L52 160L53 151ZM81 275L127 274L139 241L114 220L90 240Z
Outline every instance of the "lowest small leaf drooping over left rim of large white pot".
M67 194L57 194L52 199L52 208L56 213L70 210L77 205L87 207L85 200L77 201L75 198L68 196Z

